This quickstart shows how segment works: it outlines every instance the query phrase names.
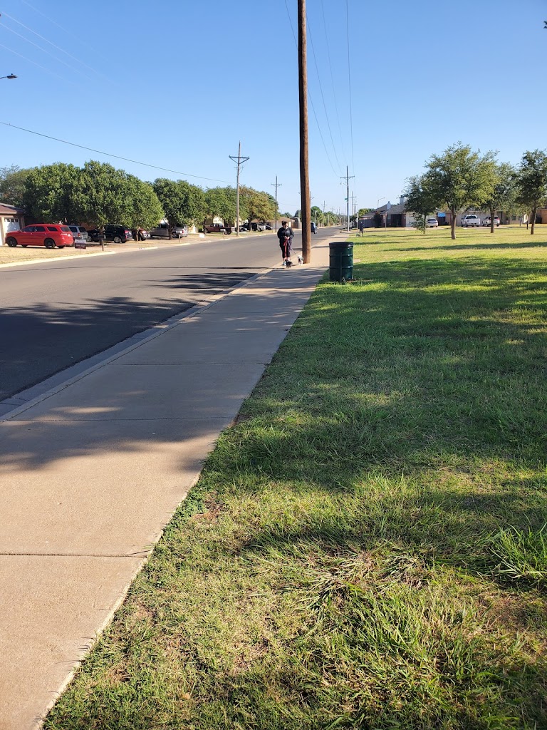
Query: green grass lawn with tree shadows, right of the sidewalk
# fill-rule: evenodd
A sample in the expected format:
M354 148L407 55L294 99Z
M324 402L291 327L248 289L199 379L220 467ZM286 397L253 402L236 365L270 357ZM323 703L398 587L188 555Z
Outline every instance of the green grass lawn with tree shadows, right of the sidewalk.
M547 728L547 226L367 231L47 730Z

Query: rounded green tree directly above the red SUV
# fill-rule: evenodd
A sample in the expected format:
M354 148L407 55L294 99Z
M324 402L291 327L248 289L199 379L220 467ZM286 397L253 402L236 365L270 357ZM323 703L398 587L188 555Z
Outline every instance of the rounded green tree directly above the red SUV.
M44 223L77 220L74 186L80 172L74 165L63 162L28 170L23 193L23 207L28 217Z

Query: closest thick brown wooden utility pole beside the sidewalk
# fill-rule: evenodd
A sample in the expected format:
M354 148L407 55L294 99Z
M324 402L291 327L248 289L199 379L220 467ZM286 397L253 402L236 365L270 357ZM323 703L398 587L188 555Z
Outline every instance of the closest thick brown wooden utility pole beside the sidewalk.
M308 155L308 74L306 50L306 0L298 0L298 100L300 107L300 215L302 216L302 255L304 264L311 258L311 221Z

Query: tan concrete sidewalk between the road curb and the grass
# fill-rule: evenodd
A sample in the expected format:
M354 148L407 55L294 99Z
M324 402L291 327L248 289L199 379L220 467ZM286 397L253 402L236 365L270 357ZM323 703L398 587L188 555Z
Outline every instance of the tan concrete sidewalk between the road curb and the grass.
M0 729L30 730L123 601L328 266L272 269L0 423Z

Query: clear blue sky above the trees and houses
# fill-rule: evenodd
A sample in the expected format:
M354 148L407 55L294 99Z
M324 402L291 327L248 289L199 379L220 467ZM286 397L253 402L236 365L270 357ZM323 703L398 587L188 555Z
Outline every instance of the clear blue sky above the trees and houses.
M210 187L235 184L228 155L241 139L241 182L273 193L277 175L279 207L294 212L296 6L4 0L0 75L18 79L0 81L1 121L188 175L3 125L0 166L98 159ZM307 10L312 204L344 210L346 165L357 204L375 206L458 140L513 163L547 147L545 0L307 0Z

